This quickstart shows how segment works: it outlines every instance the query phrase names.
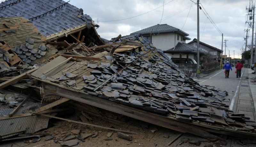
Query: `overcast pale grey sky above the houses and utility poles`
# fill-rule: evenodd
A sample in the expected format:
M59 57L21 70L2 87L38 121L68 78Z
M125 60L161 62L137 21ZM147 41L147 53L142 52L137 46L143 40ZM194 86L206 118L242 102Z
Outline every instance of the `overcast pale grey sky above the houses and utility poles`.
M65 1L67 2L68 0ZM194 38L197 38L197 6L192 1L70 0L69 3L78 8L82 8L84 14L90 15L95 23L100 25L97 29L100 37L108 40L119 34L125 36L159 24L163 13L163 4L165 4L163 18L160 24L167 24L188 33L188 37L191 38L191 40L187 41L188 43ZM235 58L237 58L238 53L241 53L240 49L242 47L245 48L244 37L246 33L244 33L244 30L247 28L247 26L245 27L246 5L249 5L247 1L248 0L200 0L199 2L202 10L205 9L204 12L209 14L213 23L215 23L221 33L223 33L224 40L228 40L226 55L228 55L229 50L230 57L232 58L234 57L233 50L235 50ZM194 0L194 2L196 2L196 0ZM202 10L199 10L200 41L221 49L221 34L212 25ZM248 44L251 44L251 36L252 29L249 34ZM224 51L225 45L223 43L223 55Z

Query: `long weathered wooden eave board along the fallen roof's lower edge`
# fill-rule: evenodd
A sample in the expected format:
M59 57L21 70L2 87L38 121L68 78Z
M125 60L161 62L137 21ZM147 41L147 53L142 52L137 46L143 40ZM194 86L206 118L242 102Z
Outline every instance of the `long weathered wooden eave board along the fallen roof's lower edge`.
M81 103L85 103L91 106L99 107L111 112L115 112L118 114L122 114L125 116L129 116L141 121L146 121L148 123L152 123L158 126L162 126L168 129L176 130L181 133L191 133L197 136L202 136L204 138L211 138L211 139L222 139L219 136L212 135L204 129L197 128L194 125L188 125L186 122L181 122L178 120L174 120L168 116L159 115L156 113L151 113L145 110L136 109L133 107L124 106L109 100L101 99L92 95L89 95L85 92L76 91L71 88L67 88L65 86L61 86L52 82L48 82L46 80L41 80L44 85L44 92L47 94L55 94L62 97L66 97ZM224 131L222 132L224 134ZM245 132L243 136L246 134ZM235 133L236 134L236 133ZM238 135L236 134L236 135ZM248 135L249 136L249 135ZM247 136L247 137L248 137ZM250 135L252 136L252 135Z

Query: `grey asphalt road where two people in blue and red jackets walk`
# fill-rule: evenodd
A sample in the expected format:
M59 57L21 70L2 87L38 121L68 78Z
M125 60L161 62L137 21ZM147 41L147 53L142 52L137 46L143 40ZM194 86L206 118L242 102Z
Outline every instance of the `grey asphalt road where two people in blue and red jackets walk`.
M238 95L237 92L240 88L240 82L241 78L236 78L235 67L232 67L232 70L229 72L229 78L225 78L224 70L217 70L210 75L206 77L202 77L196 82L198 82L200 85L209 85L209 86L215 86L216 89L220 89L222 91L227 91L228 96L227 98L230 99L230 110L233 110L234 107L236 107L236 104L234 104L235 99L237 99ZM243 76L244 69L242 69L241 77ZM232 101L233 99L233 101Z

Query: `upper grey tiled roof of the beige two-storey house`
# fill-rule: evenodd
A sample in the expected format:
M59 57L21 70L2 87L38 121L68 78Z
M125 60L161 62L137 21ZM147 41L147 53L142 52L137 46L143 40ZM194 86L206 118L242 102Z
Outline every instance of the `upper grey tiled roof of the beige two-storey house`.
M181 31L180 29L178 28L175 28L173 26L169 26L167 24L162 24L162 25L155 25L155 26L151 26L151 27L148 27L146 29L142 29L140 31L137 31L137 32L133 32L131 34L138 34L138 33L144 33L144 34L148 34L148 33L165 33L165 32L175 32L175 31ZM183 32L183 31L181 31ZM185 32L183 32L185 33ZM187 33L185 33L187 34ZM187 34L188 35L188 34Z

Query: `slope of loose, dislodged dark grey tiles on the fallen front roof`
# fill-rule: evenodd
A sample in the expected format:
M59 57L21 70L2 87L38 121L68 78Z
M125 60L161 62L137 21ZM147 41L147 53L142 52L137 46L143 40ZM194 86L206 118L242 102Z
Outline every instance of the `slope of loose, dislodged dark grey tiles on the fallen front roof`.
M129 49L114 53L113 56L104 52L101 55L102 60L97 62L68 62L59 67L58 72L49 71L55 74L43 76L41 81L47 81L45 85L68 87L63 90L86 92L95 101L98 101L97 98L107 99L125 107L145 110L149 112L148 115L153 113L197 127L213 130L219 128L231 132L239 130L256 136L254 120L228 110L230 101L225 98L227 92L199 85L179 71L161 50L154 48L145 38L133 36L130 40L137 40L143 48ZM33 74L32 78L39 73ZM51 94L65 95L58 93L58 90L49 91ZM73 98L72 95L65 96ZM87 104L90 105L90 102ZM108 110L111 109L108 107Z

